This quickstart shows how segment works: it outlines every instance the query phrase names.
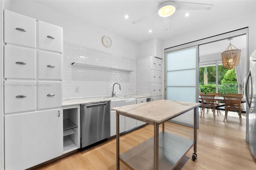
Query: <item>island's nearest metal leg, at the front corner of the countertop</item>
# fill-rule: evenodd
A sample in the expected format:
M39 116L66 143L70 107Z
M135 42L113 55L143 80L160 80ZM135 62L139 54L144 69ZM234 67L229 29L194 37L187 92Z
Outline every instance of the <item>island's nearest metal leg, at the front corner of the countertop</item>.
M154 170L158 170L158 131L159 124L154 123Z

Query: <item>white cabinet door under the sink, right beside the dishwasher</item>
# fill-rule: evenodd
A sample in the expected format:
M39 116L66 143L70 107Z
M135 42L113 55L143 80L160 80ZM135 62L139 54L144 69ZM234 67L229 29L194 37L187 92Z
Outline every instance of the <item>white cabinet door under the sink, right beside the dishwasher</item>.
M119 132L125 131L125 116L119 115ZM116 111L110 111L110 136L116 135Z

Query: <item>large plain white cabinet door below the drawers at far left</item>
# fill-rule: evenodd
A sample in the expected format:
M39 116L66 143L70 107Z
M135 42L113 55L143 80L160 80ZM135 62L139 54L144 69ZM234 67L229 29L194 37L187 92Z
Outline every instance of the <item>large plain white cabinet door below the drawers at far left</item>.
M62 155L62 117L62 109L5 115L5 169L27 169Z

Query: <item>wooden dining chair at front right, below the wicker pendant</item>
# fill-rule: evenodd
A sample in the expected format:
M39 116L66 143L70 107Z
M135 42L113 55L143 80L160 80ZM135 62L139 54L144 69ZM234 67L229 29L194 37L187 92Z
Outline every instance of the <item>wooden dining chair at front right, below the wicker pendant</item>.
M241 100L242 100L242 96L231 96L231 95L226 95L223 96L224 97L224 102L225 102L225 117L224 117L224 122L225 119L227 119L228 117L228 111L236 111L239 115L239 119L240 119L240 124L242 125L242 107L241 107Z

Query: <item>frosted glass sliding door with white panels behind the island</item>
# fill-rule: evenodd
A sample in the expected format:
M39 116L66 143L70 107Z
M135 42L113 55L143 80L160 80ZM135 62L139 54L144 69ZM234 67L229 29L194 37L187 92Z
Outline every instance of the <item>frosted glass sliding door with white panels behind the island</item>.
M197 46L166 53L166 99L197 102ZM171 120L194 127L194 111Z

